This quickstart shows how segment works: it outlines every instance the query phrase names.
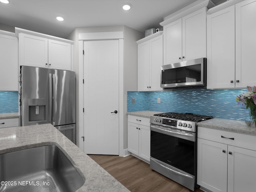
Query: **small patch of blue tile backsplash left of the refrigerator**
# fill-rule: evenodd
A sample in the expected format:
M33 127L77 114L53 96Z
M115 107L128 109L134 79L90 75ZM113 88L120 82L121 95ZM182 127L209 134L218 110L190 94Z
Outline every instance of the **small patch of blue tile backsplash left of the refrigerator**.
M0 91L0 113L18 111L18 91Z

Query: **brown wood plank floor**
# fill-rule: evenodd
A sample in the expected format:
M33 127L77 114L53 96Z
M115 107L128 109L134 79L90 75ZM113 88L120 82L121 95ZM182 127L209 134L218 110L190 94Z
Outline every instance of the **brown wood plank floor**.
M89 155L131 192L189 192L188 188L152 171L149 164L134 157ZM195 192L202 192L196 189Z

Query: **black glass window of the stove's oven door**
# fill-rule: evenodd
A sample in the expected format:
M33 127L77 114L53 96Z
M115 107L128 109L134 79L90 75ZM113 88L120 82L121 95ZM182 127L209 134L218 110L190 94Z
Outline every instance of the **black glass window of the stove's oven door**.
M150 132L150 156L195 175L195 142L154 131Z

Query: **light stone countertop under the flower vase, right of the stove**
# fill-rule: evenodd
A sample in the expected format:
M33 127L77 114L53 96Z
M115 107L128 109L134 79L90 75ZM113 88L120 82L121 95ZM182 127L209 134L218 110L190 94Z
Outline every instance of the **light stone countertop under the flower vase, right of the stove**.
M210 120L198 122L197 125L205 128L256 135L256 128L248 127L244 121L239 120L213 118Z

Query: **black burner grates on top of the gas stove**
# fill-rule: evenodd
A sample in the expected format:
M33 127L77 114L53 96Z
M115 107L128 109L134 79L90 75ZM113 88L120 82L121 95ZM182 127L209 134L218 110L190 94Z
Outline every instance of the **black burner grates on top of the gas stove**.
M184 120L184 121L192 121L192 122L201 122L201 121L205 121L213 118L212 116L207 116L207 115L196 115L193 113L175 113L175 112L154 114L154 116L166 117L166 118L172 118L172 119Z

